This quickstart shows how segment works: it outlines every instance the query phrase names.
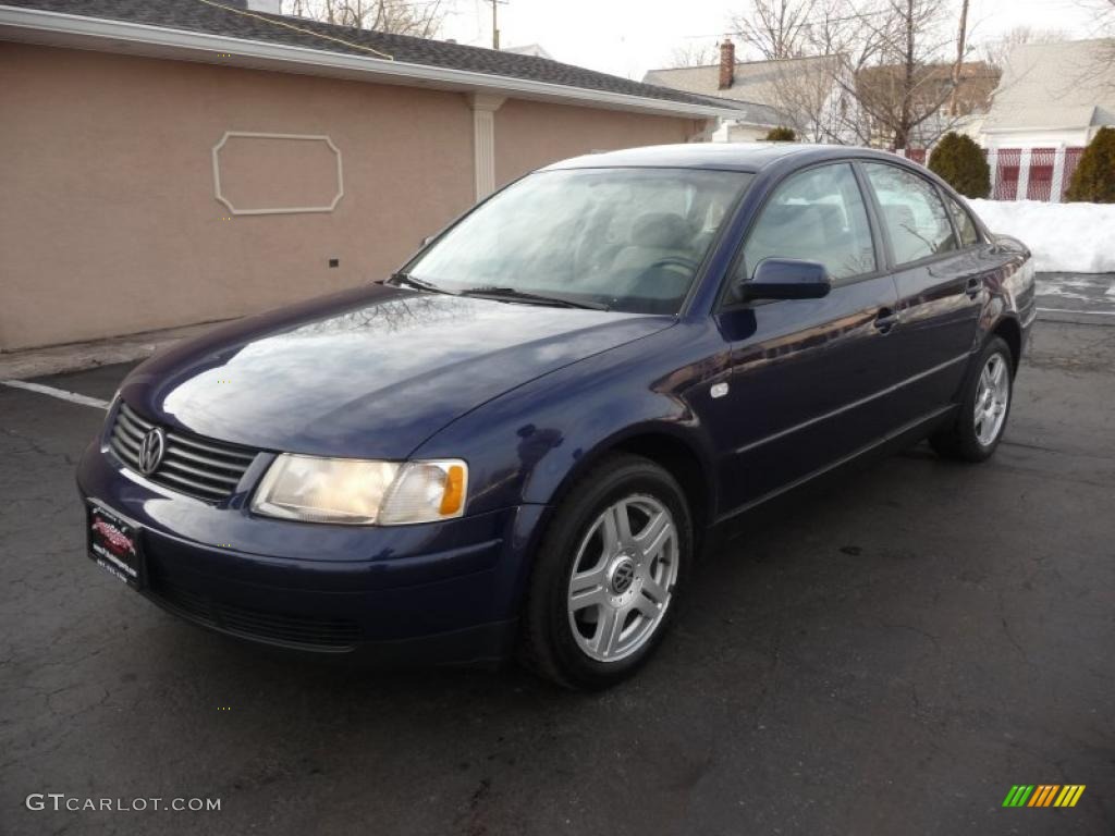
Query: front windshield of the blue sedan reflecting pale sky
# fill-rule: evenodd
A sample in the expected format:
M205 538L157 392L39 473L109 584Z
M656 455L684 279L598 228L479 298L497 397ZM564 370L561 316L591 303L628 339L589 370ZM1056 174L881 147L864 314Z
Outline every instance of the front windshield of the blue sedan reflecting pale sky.
M477 207L407 274L453 293L677 313L750 178L673 168L540 172Z

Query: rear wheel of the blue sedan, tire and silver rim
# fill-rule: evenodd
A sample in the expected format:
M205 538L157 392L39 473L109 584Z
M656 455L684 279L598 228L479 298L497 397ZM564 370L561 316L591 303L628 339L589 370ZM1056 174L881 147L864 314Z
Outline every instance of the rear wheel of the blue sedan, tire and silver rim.
M1014 357L1006 341L1000 337L988 340L964 382L956 419L929 439L939 455L960 461L986 461L991 457L1007 428L1014 400ZM989 383L992 383L990 390Z

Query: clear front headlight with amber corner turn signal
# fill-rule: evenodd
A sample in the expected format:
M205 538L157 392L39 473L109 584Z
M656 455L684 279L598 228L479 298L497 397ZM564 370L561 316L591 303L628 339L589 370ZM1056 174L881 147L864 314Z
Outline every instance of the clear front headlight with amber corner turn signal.
M252 511L308 523L407 525L459 517L468 465L362 461L284 453L252 497Z

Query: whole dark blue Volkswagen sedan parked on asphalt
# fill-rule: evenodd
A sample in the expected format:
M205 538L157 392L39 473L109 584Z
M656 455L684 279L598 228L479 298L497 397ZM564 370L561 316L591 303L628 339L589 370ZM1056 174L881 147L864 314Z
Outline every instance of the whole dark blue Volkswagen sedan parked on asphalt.
M893 155L580 157L137 368L78 472L90 556L256 642L605 687L748 509L921 438L990 456L1034 318L1025 246Z

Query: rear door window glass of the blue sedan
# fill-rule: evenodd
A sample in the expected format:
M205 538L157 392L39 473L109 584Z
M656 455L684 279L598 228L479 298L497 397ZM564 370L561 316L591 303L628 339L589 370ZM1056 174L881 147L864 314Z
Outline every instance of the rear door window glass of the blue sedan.
M884 163L864 163L863 168L879 198L895 266L958 249L952 222L932 183Z

